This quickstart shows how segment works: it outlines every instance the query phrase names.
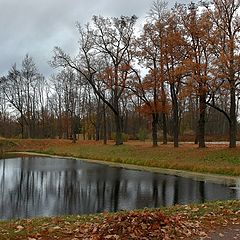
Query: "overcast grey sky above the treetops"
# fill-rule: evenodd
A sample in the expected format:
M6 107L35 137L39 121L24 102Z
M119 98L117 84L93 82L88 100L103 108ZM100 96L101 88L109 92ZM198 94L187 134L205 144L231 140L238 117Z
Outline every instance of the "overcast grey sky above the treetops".
M174 3L170 0L169 6ZM0 0L0 76L14 63L20 68L27 53L49 76L54 46L69 53L77 48L77 21L85 24L93 15L135 14L144 19L151 4L152 0Z

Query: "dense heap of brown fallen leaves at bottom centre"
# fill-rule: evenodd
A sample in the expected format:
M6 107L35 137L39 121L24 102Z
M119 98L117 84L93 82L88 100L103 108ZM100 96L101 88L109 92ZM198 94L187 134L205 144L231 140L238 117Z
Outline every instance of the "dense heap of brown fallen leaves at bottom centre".
M101 224L86 224L84 239L173 239L178 219L162 212L128 212L107 216ZM92 232L89 236L89 232ZM76 235L76 237L79 237Z

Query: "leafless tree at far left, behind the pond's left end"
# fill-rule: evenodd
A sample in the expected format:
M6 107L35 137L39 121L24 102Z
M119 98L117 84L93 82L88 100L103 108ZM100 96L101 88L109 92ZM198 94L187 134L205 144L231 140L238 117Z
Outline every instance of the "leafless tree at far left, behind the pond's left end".
M22 137L34 137L36 110L39 105L38 89L44 82L43 76L38 73L33 59L26 55L22 69L18 70L14 65L3 79L6 99L20 114Z

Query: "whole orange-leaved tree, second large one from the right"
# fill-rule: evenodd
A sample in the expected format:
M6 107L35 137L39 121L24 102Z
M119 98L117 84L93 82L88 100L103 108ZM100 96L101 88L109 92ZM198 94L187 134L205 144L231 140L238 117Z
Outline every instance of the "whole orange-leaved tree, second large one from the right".
M199 147L205 147L205 115L207 95L211 80L212 66L212 27L209 13L200 11L194 3L179 5L178 13L184 26L187 56L183 61L186 71L186 84L199 99L198 132Z

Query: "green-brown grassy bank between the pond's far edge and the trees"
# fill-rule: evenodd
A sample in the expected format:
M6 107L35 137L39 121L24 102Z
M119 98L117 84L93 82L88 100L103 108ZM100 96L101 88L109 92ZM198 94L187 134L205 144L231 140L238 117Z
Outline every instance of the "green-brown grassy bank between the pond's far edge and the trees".
M5 140L4 140L5 141ZM127 142L103 145L95 141L11 140L10 151L32 151L51 155L95 159L139 166L187 170L200 173L240 176L240 147L209 144L199 149L194 144L152 147L150 142Z

